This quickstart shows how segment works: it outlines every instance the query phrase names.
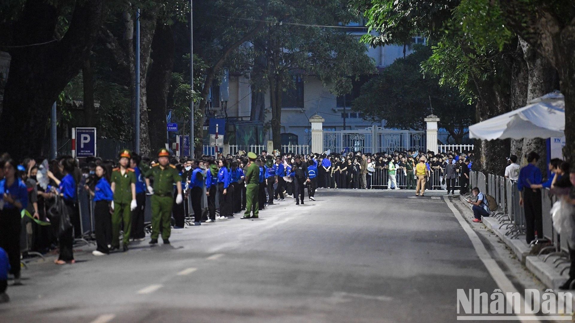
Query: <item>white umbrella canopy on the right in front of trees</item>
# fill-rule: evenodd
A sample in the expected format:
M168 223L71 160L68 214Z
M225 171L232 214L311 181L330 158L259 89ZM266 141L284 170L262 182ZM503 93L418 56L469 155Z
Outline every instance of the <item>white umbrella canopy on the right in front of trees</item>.
M554 91L527 106L469 126L469 137L481 140L565 136L565 98Z

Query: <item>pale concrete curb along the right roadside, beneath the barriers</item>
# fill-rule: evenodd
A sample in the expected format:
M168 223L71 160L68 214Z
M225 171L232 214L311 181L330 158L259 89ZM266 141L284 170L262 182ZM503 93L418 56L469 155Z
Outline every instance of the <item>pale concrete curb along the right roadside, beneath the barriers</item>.
M459 199L463 205L466 205L471 210L471 205L465 202L465 199L461 195L459 195ZM511 249L517 256L517 260L525 265L545 286L556 290L569 278L567 271L561 275L561 270L565 268L564 264L559 264L557 268L554 267L555 264L553 261L557 259L557 256L551 256L546 262L543 262L545 255L535 256L529 254L530 248L524 240L524 235L519 236L519 239L511 239L505 235L507 232L505 228L499 229L501 223L495 218L484 217L482 221L491 232L495 233L496 236Z

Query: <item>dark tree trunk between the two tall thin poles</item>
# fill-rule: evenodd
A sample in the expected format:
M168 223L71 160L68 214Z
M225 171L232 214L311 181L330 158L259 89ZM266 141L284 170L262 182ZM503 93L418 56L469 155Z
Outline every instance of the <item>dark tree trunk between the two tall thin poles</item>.
M150 76L147 87L148 125L152 149L164 147L168 93L174 67L174 34L170 25L159 23L152 40Z

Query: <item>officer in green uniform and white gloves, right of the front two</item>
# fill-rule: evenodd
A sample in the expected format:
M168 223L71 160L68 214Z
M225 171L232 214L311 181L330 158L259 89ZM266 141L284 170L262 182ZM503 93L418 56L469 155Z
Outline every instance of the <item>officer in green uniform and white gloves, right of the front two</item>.
M170 244L172 206L174 205L174 184L178 189L176 203L181 204L182 197L182 177L178 170L170 164L170 152L162 148L158 151L158 164L147 171L146 184L148 191L152 194L152 240L150 244L158 243L160 226L162 226L162 239L164 244ZM154 187L150 186L150 177L154 177Z

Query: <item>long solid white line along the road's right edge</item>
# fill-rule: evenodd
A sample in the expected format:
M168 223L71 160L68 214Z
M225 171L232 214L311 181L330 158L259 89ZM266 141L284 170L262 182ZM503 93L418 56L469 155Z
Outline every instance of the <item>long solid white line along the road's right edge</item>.
M465 221L461 213L459 213L459 210L455 208L450 199L444 198L444 200L447 203L447 206L451 209L451 212L453 212L455 218L457 218L459 225L461 225L465 233L467 233L467 236L469 237L469 240L471 240L471 244L473 244L473 248L475 249L477 256L479 259L481 259L481 262L485 265L487 271L489 271L489 274L492 276L493 280L497 286L499 286L501 291L503 291L503 293L519 293L515 286L513 286L513 283L511 283L511 280L505 276L505 273L503 270L501 270L495 259L493 259L487 249L485 249L485 245L483 245L481 239L479 239L479 236L477 236L477 233L471 228L469 222ZM521 293L519 294L522 295ZM508 298L507 301L507 306L512 306L511 299ZM524 303L523 295L521 296L520 303ZM513 309L515 309L514 306ZM520 310L521 309L518 309L518 311ZM538 317L532 314L527 314L526 316L517 316L517 320L522 322L540 322Z

